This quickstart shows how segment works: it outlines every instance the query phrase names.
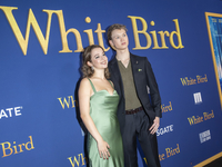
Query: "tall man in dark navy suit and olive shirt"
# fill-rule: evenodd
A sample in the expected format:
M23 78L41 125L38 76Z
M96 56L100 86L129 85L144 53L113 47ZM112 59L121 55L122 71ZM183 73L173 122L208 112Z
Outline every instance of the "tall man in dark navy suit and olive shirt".
M155 131L162 117L161 98L151 65L145 57L130 53L125 26L110 26L108 40L117 51L115 57L109 62L109 70L120 96L118 119L125 167L138 167L137 138L148 166L160 167Z

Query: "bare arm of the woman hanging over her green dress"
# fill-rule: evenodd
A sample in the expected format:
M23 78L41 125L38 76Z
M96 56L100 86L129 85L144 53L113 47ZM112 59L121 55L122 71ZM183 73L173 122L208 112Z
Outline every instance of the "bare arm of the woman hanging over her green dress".
M108 148L110 148L110 146L102 139L92 118L90 117L90 96L92 94L93 91L90 81L87 78L82 79L79 88L80 117L82 118L88 131L97 140L100 157L108 159L110 156Z

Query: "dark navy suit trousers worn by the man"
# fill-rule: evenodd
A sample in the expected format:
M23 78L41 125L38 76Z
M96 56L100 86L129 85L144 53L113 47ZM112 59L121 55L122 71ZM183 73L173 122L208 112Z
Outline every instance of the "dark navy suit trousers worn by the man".
M145 156L148 167L160 167L157 135L150 134L150 126L149 118L143 110L125 115L122 135L125 167L138 167L137 137Z

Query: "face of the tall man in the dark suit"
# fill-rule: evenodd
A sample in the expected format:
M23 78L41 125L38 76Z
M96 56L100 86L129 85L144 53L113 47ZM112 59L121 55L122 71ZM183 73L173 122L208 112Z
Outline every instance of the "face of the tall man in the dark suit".
M129 39L124 29L113 30L111 38L112 39L109 42L115 50L128 49Z

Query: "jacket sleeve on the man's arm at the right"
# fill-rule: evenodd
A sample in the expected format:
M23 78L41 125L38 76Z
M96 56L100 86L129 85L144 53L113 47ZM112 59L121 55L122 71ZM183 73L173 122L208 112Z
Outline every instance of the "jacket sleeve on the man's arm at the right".
M157 84L152 67L150 62L148 61L148 58L145 58L144 60L144 66L145 66L147 84L148 84L148 87L150 88L151 104L155 112L155 116L161 118L162 117L161 97L160 97L158 84Z

